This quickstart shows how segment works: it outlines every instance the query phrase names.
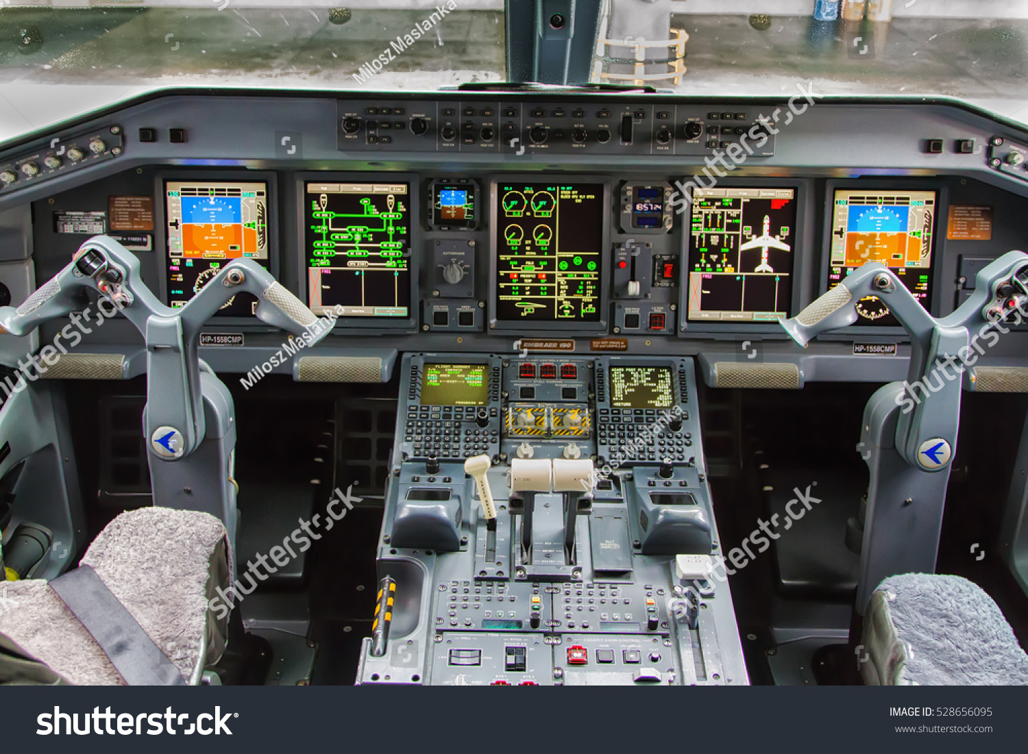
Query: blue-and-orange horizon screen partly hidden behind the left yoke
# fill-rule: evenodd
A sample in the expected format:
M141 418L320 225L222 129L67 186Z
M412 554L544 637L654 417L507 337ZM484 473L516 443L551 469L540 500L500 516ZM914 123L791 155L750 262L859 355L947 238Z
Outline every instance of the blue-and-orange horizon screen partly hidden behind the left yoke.
M233 259L268 265L268 201L264 181L166 181L168 305L185 306ZM254 313L257 299L233 296L220 316Z

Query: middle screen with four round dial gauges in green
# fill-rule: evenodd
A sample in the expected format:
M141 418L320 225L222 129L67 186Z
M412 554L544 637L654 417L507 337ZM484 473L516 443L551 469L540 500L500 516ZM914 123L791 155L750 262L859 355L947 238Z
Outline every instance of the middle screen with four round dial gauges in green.
M603 186L497 189L497 319L598 322Z

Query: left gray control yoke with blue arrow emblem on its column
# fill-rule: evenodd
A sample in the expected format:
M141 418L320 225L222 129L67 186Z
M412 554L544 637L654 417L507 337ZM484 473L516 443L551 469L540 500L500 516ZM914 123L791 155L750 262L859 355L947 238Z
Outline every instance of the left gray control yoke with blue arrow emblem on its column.
M16 309L0 308L0 327L12 335L27 335L44 322L85 309L86 290L100 295L99 307L105 311L116 307L143 334L147 350L147 441L156 448L154 435L158 428L181 432L181 440L164 441L169 452L157 453L163 460L188 455L204 439L199 333L230 298L244 291L253 294L261 322L300 337L305 335L307 345L331 331L328 324L315 327L319 319L314 312L250 259L226 264L185 306L164 306L143 282L136 256L106 235L85 241L71 264Z

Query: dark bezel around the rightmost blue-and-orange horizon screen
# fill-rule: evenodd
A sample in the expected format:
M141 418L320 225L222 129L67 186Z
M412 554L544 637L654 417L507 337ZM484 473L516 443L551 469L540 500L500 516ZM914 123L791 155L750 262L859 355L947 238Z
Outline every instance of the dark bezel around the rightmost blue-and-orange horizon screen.
M903 179L903 178L861 178L847 180L829 180L824 184L824 206L821 234L821 266L817 278L814 298L822 296L829 289L829 274L832 271L832 219L835 212L835 192L842 190L881 189L883 191L934 191L935 192L935 224L932 232L934 242L931 249L931 295L928 303L928 313L937 316L940 311L942 292L942 261L946 254L946 228L941 225L949 217L949 191L945 182L940 180ZM900 325L851 325L845 330L823 333L817 337L821 340L853 340L854 336L887 335L890 341L896 336L906 337L907 331Z

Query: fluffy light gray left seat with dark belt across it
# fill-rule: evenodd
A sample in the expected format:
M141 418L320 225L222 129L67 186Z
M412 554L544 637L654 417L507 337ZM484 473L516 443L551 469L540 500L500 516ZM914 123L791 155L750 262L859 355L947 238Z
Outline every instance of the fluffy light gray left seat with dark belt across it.
M121 514L78 569L0 581L0 683L199 684L225 649L230 559L210 514Z

